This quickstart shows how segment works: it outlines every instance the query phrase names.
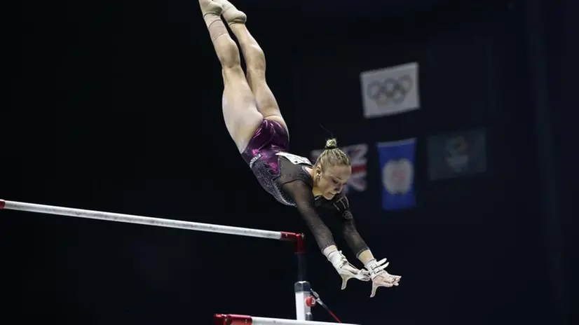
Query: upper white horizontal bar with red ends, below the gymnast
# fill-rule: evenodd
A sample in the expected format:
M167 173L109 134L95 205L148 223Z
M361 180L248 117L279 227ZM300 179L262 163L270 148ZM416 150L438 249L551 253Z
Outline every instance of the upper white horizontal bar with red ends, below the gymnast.
M222 233L226 235L259 237L259 238L268 238L272 240L298 241L302 237L302 235L296 233L287 233L283 231L259 230L232 226L218 226L209 223L197 223L191 221L151 218L150 216L116 214L111 212L100 212L85 209L71 209L68 207L37 205L34 203L14 202L6 200L0 200L0 209L36 212L41 214L57 214L60 216L74 216L76 218L99 219L123 223L137 223L147 226L156 226L163 228L179 228L193 231L201 231L205 233Z

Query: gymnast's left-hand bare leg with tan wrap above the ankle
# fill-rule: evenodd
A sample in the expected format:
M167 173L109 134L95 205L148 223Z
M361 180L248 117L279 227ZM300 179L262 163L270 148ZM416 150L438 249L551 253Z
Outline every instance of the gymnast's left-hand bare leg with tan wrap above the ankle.
M254 95L241 69L237 44L221 19L222 6L212 0L199 0L199 6L222 65L225 125L238 150L243 152L261 125L263 116L257 110Z

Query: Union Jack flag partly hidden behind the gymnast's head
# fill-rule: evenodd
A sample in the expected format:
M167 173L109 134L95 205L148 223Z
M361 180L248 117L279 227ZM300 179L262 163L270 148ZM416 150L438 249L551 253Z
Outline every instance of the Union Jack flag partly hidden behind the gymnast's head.
M340 149L350 157L350 163L352 163L352 177L350 177L348 184L344 186L343 193L348 193L350 188L358 192L366 191L366 153L368 152L368 145L354 144L340 147ZM316 149L311 152L312 163L318 160L322 151L324 150Z

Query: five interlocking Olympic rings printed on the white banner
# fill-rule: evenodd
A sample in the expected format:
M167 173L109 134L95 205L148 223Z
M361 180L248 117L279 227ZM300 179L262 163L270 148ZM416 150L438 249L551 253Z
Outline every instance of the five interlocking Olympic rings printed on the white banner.
M401 104L408 93L414 88L414 81L408 75L400 78L387 78L384 81L372 81L366 92L378 106L386 106L392 102Z

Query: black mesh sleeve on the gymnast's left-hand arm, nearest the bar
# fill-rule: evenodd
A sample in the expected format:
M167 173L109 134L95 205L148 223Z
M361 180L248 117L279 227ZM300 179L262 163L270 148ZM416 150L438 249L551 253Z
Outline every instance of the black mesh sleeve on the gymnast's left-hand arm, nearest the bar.
M299 214L306 221L318 247L323 251L326 247L334 245L332 232L322 221L318 212L315 211L312 188L304 181L297 180L284 184L283 190L296 202Z

